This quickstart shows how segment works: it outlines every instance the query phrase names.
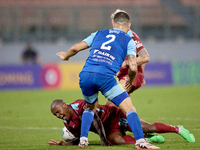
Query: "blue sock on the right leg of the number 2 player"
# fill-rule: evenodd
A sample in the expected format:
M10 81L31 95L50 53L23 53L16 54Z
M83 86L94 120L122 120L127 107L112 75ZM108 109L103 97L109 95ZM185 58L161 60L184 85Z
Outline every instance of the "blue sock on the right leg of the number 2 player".
M128 124L134 134L135 140L144 138L141 122L139 120L137 113L131 110L126 114L126 117L127 117Z

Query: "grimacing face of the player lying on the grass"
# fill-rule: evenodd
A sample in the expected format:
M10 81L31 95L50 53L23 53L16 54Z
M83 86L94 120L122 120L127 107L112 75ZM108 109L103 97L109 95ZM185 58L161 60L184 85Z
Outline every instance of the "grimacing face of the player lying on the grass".
M68 109L67 104L56 105L51 109L51 112L62 120L69 120L72 117L72 113Z

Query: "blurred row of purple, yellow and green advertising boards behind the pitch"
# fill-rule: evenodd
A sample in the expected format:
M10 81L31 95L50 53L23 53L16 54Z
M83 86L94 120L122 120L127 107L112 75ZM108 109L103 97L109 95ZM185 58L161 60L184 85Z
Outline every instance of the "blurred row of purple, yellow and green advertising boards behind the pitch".
M0 66L0 90L79 89L83 62ZM148 63L146 86L200 84L200 62Z

